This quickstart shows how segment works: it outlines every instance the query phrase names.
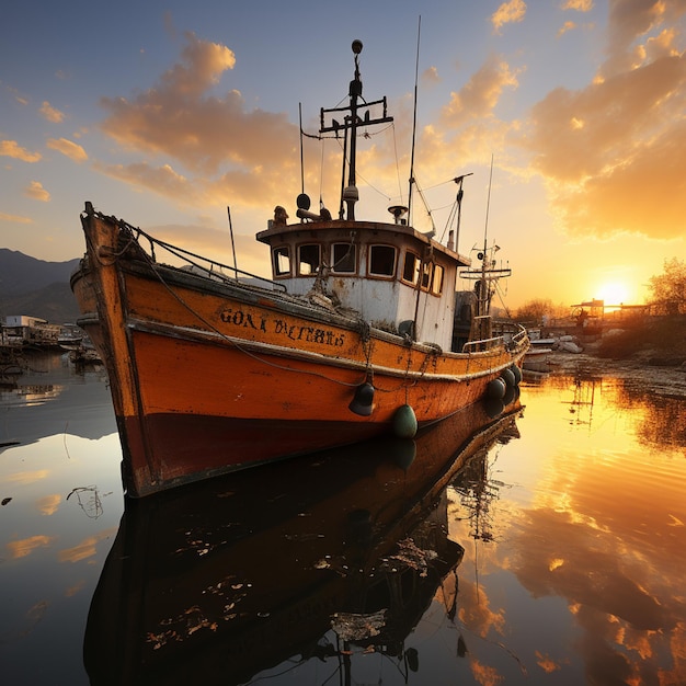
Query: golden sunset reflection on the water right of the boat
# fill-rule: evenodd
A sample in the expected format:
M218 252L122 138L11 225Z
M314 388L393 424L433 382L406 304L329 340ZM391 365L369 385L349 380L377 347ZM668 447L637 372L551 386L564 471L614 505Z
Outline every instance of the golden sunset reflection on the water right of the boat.
M684 400L579 375L523 393L526 462L498 464L496 499L483 487L453 495L454 535L475 538L461 617L516 663L491 671L491 682L518 683L525 668L556 684L686 683ZM493 468L484 467L491 484ZM466 493L481 499L487 535L465 516ZM526 603L512 597L515 580Z

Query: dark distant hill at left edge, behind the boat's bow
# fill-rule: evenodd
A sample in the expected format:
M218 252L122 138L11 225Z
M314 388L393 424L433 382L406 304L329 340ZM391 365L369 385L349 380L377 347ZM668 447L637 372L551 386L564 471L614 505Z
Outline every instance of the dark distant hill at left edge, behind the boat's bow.
M0 317L26 315L64 324L76 321L79 308L69 277L79 259L45 262L0 248Z

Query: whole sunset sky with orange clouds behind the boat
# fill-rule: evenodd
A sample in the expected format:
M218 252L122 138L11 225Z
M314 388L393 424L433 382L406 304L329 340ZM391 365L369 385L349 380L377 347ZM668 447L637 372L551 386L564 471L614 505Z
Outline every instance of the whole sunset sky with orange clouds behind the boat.
M386 95L395 123L359 141L357 218L407 203L416 70L414 175L437 236L450 180L472 173L459 251L488 227L510 307L642 302L686 259L684 0L5 4L1 248L80 256L91 201L232 264L230 206L239 266L266 274L254 235L275 205L295 219L299 104L312 134L345 104L358 38L364 96ZM307 139L304 157L306 192L335 216L339 146Z

